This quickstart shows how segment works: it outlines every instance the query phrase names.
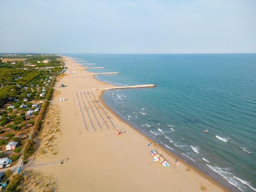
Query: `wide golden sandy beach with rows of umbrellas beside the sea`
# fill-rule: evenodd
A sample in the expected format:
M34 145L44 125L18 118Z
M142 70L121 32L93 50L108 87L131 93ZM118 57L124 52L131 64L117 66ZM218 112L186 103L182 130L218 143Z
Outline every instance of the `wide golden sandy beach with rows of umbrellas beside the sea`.
M111 85L98 81L71 59L65 60L67 72L77 73L66 72L55 85L39 148L27 170L51 175L58 191L227 191L182 161L177 170L175 156L161 147L158 151L171 166L153 162L147 146L151 140L102 103L102 89ZM116 129L125 133L117 136ZM66 161L61 164L61 159Z

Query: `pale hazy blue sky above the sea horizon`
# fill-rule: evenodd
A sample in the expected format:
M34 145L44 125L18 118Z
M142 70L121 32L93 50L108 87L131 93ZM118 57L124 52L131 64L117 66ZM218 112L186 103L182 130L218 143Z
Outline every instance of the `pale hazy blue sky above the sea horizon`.
M0 52L256 53L255 0L0 0Z

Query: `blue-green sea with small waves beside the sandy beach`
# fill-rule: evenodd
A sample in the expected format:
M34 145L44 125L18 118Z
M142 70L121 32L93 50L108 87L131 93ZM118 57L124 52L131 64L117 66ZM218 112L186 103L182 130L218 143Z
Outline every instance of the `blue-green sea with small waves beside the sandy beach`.
M109 84L157 85L105 91L103 101L231 191L256 191L256 54L65 55L120 72L95 76Z

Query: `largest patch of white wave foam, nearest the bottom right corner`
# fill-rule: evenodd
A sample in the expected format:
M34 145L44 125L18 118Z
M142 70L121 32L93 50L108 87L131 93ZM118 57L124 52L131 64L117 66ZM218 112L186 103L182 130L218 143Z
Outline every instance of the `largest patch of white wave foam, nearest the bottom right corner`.
M213 170L214 172L220 174L223 178L225 178L231 185L234 185L235 187L237 187L239 190L244 191L241 189L241 185L239 185L238 181L234 179L234 175L230 172L228 172L228 169L226 168L221 168L218 166L213 166L213 165L209 165L206 164L211 170Z

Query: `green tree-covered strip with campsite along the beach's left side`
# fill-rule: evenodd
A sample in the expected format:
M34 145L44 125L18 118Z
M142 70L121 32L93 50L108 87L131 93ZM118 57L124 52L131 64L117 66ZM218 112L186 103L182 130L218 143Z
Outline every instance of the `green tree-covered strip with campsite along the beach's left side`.
M22 155L23 162L34 153L34 138L41 128L41 122L51 100L55 76L65 71L57 55L3 55L0 58L26 58L25 61L0 60L0 146L9 141L18 141L19 147L11 154L1 153L13 161ZM32 114L29 113L31 111ZM29 113L28 113L29 112ZM30 128L31 127L31 128ZM25 137L18 136L21 131ZM6 172L10 178L12 173ZM6 191L20 191L20 175L12 175ZM18 187L18 188L17 188Z

